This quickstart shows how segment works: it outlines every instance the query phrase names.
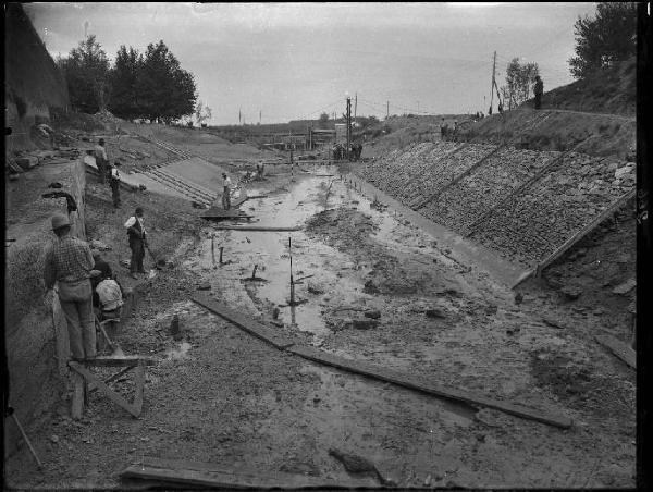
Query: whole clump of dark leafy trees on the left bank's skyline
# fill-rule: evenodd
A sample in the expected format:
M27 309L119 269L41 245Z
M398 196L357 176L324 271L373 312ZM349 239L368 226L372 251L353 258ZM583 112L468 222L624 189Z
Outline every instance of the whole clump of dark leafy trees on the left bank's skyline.
M201 122L207 110L210 118L208 107L196 111L195 78L182 69L163 40L149 44L143 53L122 45L111 64L90 35L57 63L76 110L93 114L107 109L125 120L165 123L193 114Z

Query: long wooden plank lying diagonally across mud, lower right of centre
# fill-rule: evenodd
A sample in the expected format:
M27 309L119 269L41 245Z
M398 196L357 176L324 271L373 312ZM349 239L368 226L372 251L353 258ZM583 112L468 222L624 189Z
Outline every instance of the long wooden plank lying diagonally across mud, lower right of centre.
M528 408L521 405L515 405L506 402L500 402L484 396L478 396L471 392L438 386L429 381L418 379L411 376L402 374L379 368L377 366L359 362L356 360L345 359L312 347L303 345L293 345L287 348L288 352L304 357L308 360L332 366L338 369L344 369L349 372L355 372L362 376L368 376L381 381L398 384L404 388L416 390L430 395L439 396L446 399L464 402L470 405L481 405L488 408L504 411L529 420L535 420L550 426L567 429L571 427L571 419L564 416L551 415L542 410Z

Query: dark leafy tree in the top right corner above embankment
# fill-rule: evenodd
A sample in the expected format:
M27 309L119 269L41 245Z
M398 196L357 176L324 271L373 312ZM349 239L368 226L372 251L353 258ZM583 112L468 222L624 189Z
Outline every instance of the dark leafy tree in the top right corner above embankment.
M574 24L576 57L569 59L575 78L637 54L637 5L632 2L601 2L596 16L578 17Z

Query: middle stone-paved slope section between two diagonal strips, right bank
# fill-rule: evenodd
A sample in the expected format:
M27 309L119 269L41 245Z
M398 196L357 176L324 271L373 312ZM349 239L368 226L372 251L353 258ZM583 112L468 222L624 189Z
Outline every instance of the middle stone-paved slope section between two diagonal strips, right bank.
M470 174L443 190L420 212L434 222L466 234L483 213L500 204L562 152L502 148Z

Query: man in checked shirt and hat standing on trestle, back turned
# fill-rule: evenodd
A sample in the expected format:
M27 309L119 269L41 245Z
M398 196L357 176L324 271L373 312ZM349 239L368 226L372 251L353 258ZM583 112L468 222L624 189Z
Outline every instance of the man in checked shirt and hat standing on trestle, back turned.
M88 244L71 235L67 216L52 217L57 238L44 250L44 280L48 292L57 284L59 303L66 319L72 359L96 356L90 271L94 267Z

